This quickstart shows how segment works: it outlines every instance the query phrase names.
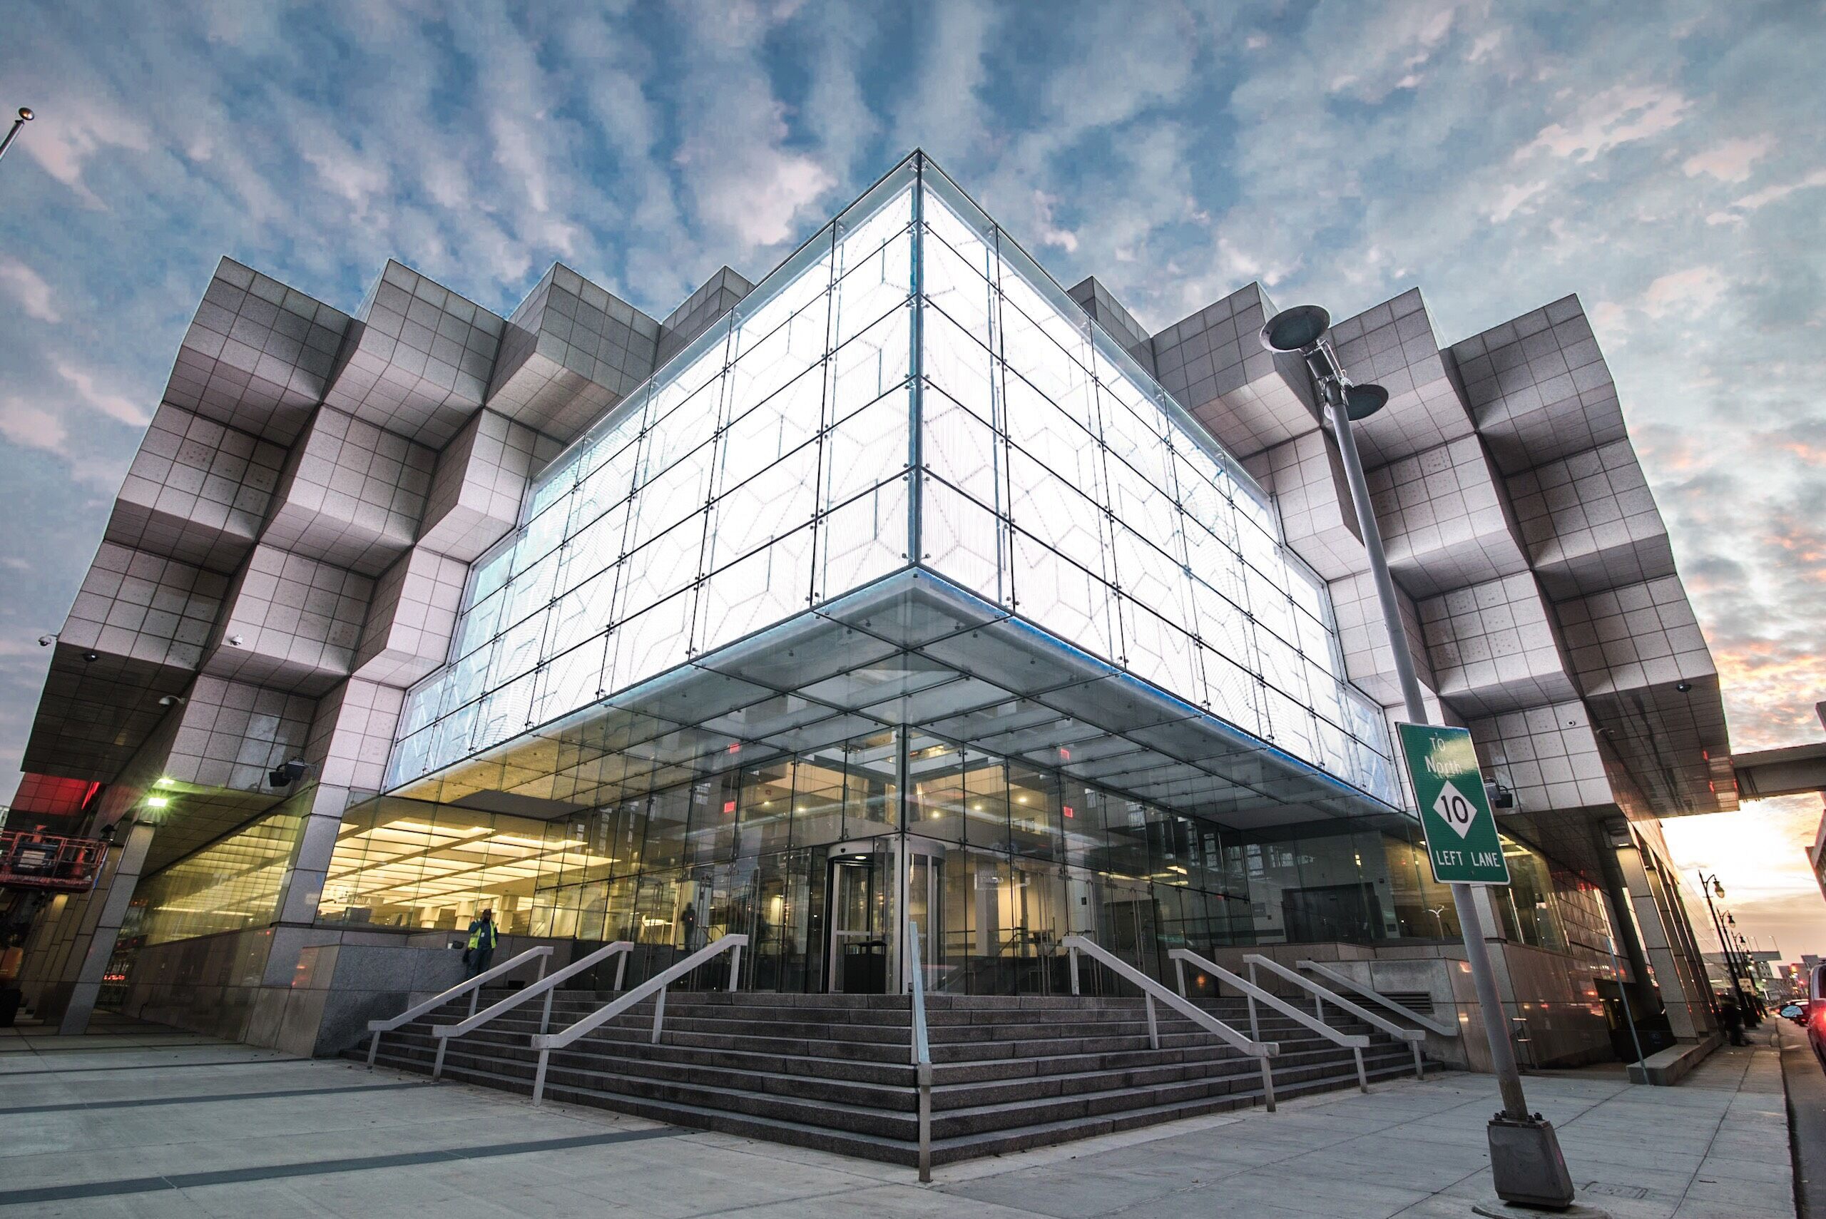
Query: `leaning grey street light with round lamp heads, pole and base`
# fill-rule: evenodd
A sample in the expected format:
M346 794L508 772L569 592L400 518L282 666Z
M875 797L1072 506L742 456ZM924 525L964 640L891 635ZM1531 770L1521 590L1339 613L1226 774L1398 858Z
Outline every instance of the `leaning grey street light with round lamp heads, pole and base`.
M1324 400L1331 434L1338 442L1344 480L1349 484L1351 507L1357 511L1357 531L1362 535L1364 553L1370 558L1370 578L1382 606L1382 624L1388 630L1402 706L1408 723L1424 724L1428 723L1426 699L1421 693L1421 679L1413 672L1413 653L1408 650L1408 633L1401 624L1395 580L1388 573L1388 557L1382 551L1382 529L1377 524L1375 505L1370 502L1370 484L1364 478L1362 458L1357 454L1357 436L1351 431L1353 422L1370 418L1388 403L1388 391L1380 385L1353 385L1349 381L1326 341L1329 328L1331 316L1324 308L1298 305L1282 310L1262 327L1262 345L1269 350L1302 356ZM1495 973L1490 967L1490 949L1485 943L1475 892L1472 885L1452 885L1450 889L1452 903L1459 912L1459 931L1464 936L1464 960L1472 971L1485 1037L1490 1042L1490 1068L1503 1097L1503 1111L1488 1126L1490 1172L1497 1195L1505 1203L1565 1210L1572 1206L1572 1177L1567 1172L1552 1122L1528 1111L1521 1071L1516 1066L1516 1047L1508 1040L1503 1005L1495 991Z

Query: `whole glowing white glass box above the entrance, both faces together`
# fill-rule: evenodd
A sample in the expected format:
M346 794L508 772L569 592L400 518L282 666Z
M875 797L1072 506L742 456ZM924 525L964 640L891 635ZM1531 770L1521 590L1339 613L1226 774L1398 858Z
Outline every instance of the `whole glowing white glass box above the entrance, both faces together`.
M389 785L909 566L1395 803L1380 712L1267 496L918 162L535 480Z

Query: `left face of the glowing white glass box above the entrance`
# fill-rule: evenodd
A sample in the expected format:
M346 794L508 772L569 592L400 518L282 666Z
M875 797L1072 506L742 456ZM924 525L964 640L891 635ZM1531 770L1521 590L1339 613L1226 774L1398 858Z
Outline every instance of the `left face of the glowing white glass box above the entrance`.
M915 172L904 166L539 474L475 564L387 787L908 560Z

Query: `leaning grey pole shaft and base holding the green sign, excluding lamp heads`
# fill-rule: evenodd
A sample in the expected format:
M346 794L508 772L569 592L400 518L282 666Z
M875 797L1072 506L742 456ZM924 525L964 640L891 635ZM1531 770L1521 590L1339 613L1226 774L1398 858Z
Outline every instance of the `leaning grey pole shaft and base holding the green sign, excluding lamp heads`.
M1351 487L1351 505L1357 509L1357 527L1370 557L1370 577L1377 600L1382 604L1382 622L1401 681L1401 697L1408 723L1424 724L1426 701L1413 672L1408 635L1401 624L1401 604L1395 600L1395 582L1388 575L1382 553L1382 531L1377 526L1362 460L1357 456L1357 438L1351 434L1349 411L1344 405L1344 385L1331 378L1322 385L1331 407L1331 429L1344 460L1344 478ZM1477 912L1470 885L1452 885L1452 901L1459 911L1459 929L1464 934L1464 958L1477 989L1477 1007L1483 1013L1485 1037L1490 1040L1490 1069L1495 1071L1503 1095L1503 1111L1490 1122L1490 1172L1503 1201L1532 1206L1567 1208L1572 1204L1572 1177L1559 1151L1550 1122L1528 1113L1528 1099L1521 1089L1521 1071L1516 1068L1516 1047L1503 1024L1503 1007L1495 993L1495 974L1490 969L1490 949L1483 936L1483 918Z

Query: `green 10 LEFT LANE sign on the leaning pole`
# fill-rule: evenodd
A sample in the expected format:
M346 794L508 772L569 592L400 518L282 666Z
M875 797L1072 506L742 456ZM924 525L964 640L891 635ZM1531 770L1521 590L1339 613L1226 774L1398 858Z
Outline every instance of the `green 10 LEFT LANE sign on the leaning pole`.
M1395 724L1441 885L1506 885L1508 860L1466 728Z

